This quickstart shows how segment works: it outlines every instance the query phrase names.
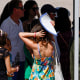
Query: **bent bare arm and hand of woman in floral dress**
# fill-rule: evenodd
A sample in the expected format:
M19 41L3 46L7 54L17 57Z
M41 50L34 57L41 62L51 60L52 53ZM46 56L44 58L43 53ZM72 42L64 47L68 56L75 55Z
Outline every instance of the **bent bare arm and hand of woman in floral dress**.
M36 48L37 44L34 43L34 41L32 41L31 39L29 39L28 37L34 37L34 35L36 35L36 38L39 37L44 37L45 32L43 32L43 30L36 32L36 33L29 33L29 32L20 32L19 36L22 39L22 41L31 49Z

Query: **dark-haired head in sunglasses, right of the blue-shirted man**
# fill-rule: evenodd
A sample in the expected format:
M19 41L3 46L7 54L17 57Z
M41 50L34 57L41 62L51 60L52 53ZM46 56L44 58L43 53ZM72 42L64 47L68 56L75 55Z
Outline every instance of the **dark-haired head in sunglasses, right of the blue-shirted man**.
M34 0L28 0L24 4L24 17L25 19L28 19L29 16L35 17L36 12L38 11L38 4Z

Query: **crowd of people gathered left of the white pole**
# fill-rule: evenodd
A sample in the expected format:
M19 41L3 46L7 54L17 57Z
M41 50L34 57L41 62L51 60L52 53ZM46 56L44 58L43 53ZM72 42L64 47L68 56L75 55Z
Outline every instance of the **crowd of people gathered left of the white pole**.
M40 12L48 13L58 36L43 28ZM21 0L11 0L4 7L0 16L0 80L55 80L55 47L64 80L74 80L70 12L51 4L44 4L40 12L35 0L24 5Z

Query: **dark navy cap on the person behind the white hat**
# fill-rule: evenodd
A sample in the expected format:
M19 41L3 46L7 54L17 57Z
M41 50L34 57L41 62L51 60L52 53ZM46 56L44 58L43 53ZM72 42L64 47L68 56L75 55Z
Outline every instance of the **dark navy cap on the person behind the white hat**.
M45 4L42 6L41 8L41 14L44 14L44 13L55 13L56 12L56 9L51 5L51 4Z

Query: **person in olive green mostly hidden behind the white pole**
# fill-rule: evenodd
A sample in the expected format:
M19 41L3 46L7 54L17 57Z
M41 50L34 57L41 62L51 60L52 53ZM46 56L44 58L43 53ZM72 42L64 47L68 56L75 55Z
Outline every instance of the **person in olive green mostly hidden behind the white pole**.
M73 39L72 44L70 46L70 73L71 73L71 80L74 80L74 36L72 37L72 39ZM78 63L79 63L79 80L80 80L80 17L79 17L79 56L78 57L79 57Z

